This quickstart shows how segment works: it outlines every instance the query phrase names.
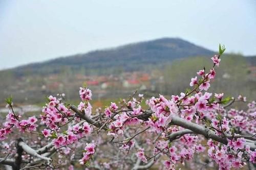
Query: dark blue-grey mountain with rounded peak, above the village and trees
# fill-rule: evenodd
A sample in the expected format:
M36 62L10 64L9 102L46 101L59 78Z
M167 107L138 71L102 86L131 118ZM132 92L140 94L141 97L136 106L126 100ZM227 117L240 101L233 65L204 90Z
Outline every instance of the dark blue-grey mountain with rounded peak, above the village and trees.
M212 54L214 52L180 38L161 38L23 65L14 68L13 71L18 76L28 73L57 74L67 68L75 72L82 69L91 75L108 74L118 69L136 71L151 65L172 62L175 59Z

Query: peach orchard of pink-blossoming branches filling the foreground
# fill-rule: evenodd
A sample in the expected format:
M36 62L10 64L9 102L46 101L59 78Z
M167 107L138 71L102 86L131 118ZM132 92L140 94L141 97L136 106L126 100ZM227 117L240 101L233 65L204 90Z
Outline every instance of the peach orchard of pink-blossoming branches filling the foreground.
M207 92L221 66L224 46L191 78L180 95L129 99L94 108L88 87L81 102L48 96L38 115L9 113L0 127L4 169L253 169L256 103ZM218 70L217 70L218 72ZM142 108L145 102L147 108ZM246 110L232 108L237 102Z

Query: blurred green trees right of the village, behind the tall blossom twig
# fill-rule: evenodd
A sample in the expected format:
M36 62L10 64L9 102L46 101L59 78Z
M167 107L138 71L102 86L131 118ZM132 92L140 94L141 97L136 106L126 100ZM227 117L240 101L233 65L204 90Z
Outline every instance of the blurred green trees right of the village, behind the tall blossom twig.
M179 94L187 88L189 78L202 65L206 70L209 68L207 58L194 57L183 60L177 60L170 65L165 66L163 71L165 81L165 91L172 91L174 94ZM248 78L248 64L245 57L239 55L224 55L222 59L222 67L218 69L218 76L212 82L209 91L223 92L227 95L244 94L249 99L253 99L256 95L254 83Z

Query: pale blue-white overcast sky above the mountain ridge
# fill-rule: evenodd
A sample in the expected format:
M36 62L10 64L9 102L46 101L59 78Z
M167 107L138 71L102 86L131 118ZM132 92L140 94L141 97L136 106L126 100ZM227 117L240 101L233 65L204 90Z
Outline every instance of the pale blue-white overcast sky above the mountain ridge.
M0 0L0 69L161 37L256 55L256 1Z

